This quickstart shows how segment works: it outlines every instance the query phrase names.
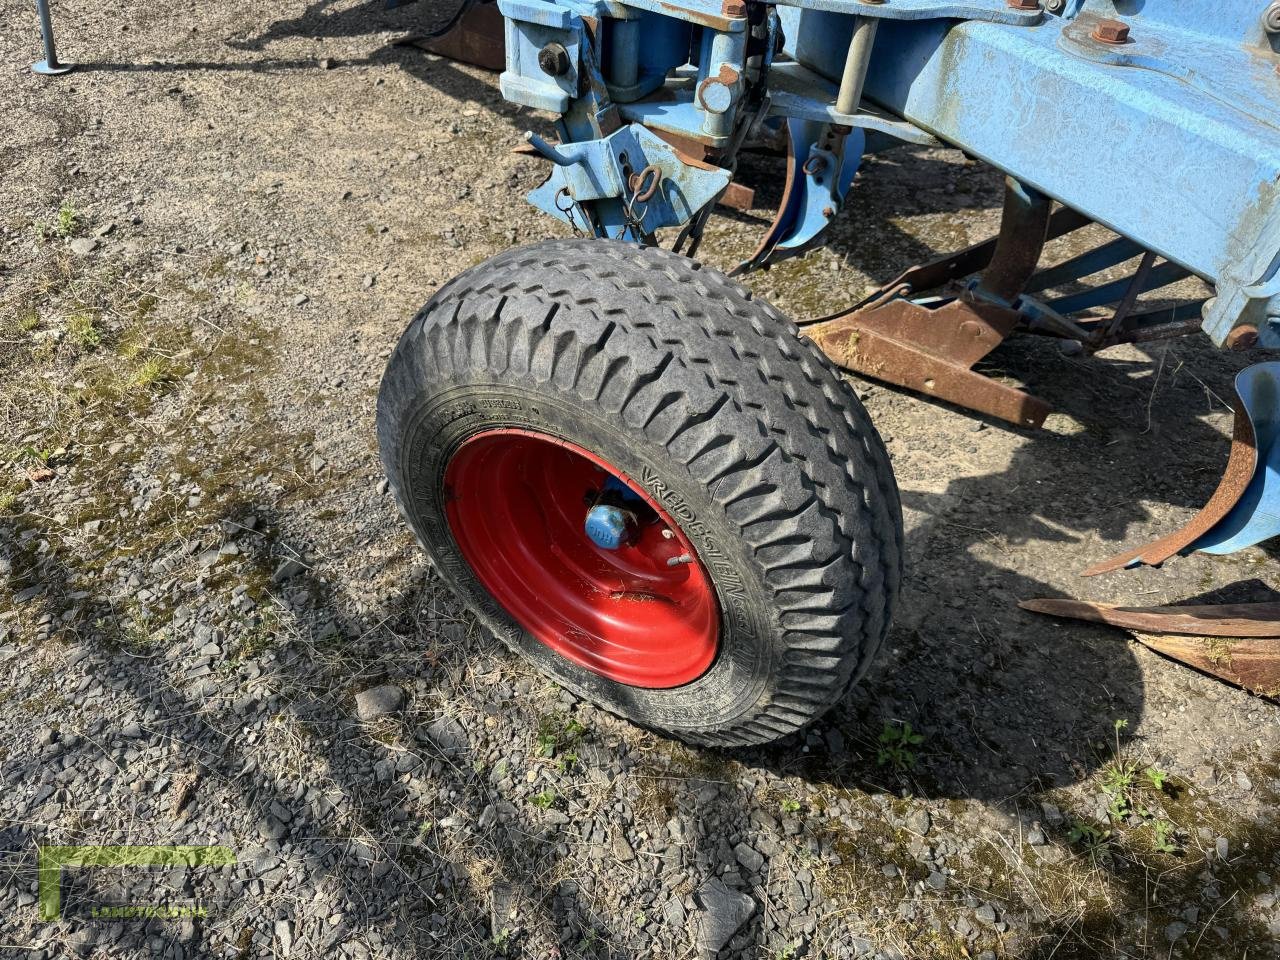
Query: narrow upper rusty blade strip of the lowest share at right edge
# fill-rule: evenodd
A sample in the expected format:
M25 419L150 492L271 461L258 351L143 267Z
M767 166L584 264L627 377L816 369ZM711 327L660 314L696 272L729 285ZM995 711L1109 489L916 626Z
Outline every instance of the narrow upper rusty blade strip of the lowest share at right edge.
M1280 637L1280 603L1216 603L1184 607L1120 607L1088 600L1023 600L1024 611L1051 617L1071 617L1110 623L1147 634L1192 634L1193 636ZM1276 648L1280 653L1280 646Z

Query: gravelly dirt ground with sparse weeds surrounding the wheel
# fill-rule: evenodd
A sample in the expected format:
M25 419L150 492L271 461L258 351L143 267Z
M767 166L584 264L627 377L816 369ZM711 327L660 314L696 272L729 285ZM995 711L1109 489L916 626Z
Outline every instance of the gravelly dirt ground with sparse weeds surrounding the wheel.
M1274 545L1078 576L1212 493L1261 355L1014 340L984 369L1055 406L1039 431L852 379L906 513L888 649L804 737L687 749L486 636L378 463L408 319L559 232L512 152L548 118L399 44L412 8L58 3L81 68L46 79L31 6L0 0L0 954L1280 956L1276 705L1016 607L1280 589ZM781 174L745 164L760 209L709 264ZM749 283L827 312L1000 196L879 155L828 247ZM206 916L77 913L137 872L69 869L41 919L37 846L108 844L237 864L164 872Z

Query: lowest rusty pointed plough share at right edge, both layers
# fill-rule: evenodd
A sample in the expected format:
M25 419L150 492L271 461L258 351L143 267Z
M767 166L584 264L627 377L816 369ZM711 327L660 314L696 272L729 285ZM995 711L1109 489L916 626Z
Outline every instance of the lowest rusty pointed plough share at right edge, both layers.
M1138 643L1170 659L1260 696L1280 696L1280 603L1116 607L1023 600L1019 607L1132 630Z

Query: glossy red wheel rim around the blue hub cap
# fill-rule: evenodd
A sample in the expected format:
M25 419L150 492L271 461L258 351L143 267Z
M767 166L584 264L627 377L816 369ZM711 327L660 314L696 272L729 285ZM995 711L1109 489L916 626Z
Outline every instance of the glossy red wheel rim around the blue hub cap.
M637 517L616 550L584 529L611 476ZM650 689L696 680L716 658L719 608L707 570L671 516L616 467L547 434L488 430L458 448L444 484L449 530L476 577L562 657Z

